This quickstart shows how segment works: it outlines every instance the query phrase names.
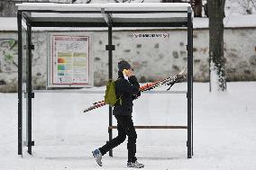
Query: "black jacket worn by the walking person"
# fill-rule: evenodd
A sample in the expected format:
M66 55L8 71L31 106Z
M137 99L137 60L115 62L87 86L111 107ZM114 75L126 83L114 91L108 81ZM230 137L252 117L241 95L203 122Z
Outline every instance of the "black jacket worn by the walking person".
M135 76L129 77L129 81L125 80L122 72L118 72L118 79L115 82L115 94L119 98L121 96L122 103L117 101L114 104L114 115L132 115L133 100L140 95L140 85Z

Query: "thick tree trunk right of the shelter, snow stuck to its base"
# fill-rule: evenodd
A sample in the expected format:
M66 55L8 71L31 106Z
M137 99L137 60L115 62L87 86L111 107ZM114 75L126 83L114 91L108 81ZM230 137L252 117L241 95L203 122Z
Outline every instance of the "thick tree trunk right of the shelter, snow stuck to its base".
M213 90L225 91L224 71L224 3L225 0L208 0L210 84Z

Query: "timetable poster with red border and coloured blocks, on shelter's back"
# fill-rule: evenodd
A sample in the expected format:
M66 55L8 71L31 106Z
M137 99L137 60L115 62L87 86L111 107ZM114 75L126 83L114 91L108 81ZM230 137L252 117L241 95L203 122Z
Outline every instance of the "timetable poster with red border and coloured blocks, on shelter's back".
M52 36L52 85L89 84L89 36Z

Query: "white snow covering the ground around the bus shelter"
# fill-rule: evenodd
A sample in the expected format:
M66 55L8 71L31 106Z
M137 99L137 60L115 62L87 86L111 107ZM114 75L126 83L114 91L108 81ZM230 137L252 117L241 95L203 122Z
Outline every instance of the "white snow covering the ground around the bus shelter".
M187 159L187 130L137 130L137 157L144 169L255 169L256 82L227 87L224 94L209 94L208 84L195 83L191 159ZM186 84L172 90L186 90ZM32 156L23 148L22 158L17 155L17 94L0 94L0 169L126 169L126 142L114 148L114 157L103 157L103 167L91 156L108 139L108 109L81 111L102 96L36 93L32 100L35 146ZM186 125L186 111L185 94L142 94L134 102L133 120L136 125Z

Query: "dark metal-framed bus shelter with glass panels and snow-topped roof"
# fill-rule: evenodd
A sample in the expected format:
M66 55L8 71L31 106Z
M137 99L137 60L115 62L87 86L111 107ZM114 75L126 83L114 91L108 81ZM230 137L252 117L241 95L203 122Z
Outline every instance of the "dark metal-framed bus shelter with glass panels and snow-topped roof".
M187 126L135 126L137 129L187 130L187 158L193 156L193 21L190 4L185 3L117 3L117 4L51 4L23 3L18 6L18 155L23 155L23 117L26 117L24 144L32 154L32 28L91 27L107 28L108 78L113 78L113 28L158 27L187 28ZM25 30L25 34L23 31ZM24 46L25 44L25 46ZM26 49L26 52L23 52ZM26 58L26 67L23 67ZM23 69L26 71L23 72ZM23 74L25 73L25 80ZM25 92L23 92L25 83ZM26 109L23 112L23 95ZM113 139L112 107L109 106L109 139ZM113 156L113 151L109 152Z

